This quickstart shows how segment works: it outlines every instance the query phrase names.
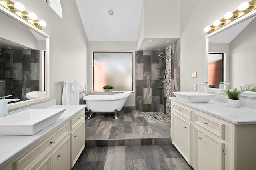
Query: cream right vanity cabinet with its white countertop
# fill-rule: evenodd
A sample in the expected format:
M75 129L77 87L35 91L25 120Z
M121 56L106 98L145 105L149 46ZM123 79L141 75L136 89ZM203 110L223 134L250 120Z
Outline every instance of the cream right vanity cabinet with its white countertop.
M172 143L194 170L255 169L255 109L170 99Z

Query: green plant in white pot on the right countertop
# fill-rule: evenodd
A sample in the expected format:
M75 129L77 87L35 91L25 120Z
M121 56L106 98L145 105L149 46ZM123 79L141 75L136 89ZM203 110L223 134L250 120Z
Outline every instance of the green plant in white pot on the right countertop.
M238 91L237 88L234 88L234 90L226 89L224 92L228 96L228 106L240 107L239 95L242 91Z

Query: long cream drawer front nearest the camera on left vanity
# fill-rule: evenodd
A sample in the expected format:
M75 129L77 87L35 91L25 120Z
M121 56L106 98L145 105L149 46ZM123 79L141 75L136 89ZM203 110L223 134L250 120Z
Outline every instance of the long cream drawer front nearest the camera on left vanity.
M56 144L58 144L67 134L69 134L69 123L66 123L56 132L50 134L48 138L42 140L43 142L35 144L34 147L32 146L30 151L24 154L21 159L14 162L14 169L33 169L32 167L40 161L39 158L47 154L47 152L54 148L54 146L56 146Z

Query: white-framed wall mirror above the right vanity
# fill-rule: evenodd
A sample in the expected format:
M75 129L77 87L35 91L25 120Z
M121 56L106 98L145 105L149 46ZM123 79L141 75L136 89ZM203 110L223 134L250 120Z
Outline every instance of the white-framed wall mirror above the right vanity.
M215 85L208 91L223 93L222 89L256 87L255 30L256 10L253 10L205 36L205 79L209 85ZM218 59L211 53L218 55ZM246 91L241 96L256 97L256 92Z

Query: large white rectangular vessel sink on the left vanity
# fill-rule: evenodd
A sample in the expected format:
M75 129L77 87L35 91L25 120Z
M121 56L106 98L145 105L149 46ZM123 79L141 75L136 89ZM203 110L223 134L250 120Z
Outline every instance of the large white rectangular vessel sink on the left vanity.
M28 109L0 118L0 136L34 135L48 127L66 109Z

